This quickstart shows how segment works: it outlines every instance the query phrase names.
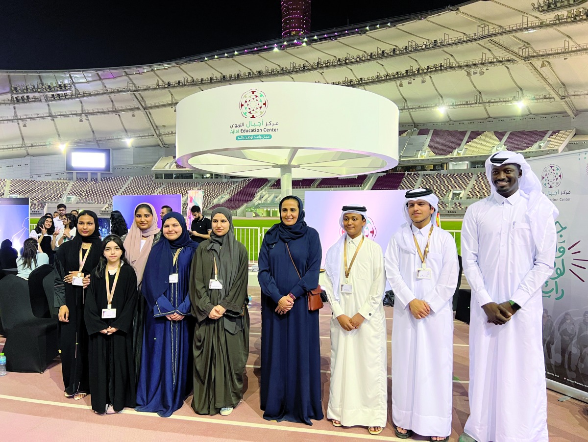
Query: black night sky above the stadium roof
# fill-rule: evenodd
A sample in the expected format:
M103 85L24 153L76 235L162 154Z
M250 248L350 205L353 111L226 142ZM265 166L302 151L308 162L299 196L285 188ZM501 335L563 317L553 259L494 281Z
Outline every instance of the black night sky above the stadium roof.
M313 0L311 28L321 31L461 2ZM149 64L254 44L282 34L279 0L21 0L6 1L2 9L0 69Z

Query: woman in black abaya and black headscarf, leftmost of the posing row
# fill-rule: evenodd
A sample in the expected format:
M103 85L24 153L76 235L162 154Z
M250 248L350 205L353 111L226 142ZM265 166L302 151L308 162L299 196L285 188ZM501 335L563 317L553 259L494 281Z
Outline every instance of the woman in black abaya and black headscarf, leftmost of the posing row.
M59 353L65 397L88 394L88 330L83 320L85 289L101 255L98 216L82 211L74 239L55 255L55 307L59 307Z

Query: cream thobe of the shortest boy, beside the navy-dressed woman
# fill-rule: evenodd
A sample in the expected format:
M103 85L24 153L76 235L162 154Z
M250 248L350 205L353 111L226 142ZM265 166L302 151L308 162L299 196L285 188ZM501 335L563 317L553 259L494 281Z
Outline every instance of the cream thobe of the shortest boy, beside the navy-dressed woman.
M345 238L349 264L361 235L353 240L348 235ZM365 238L349 274L352 293L341 293L340 284L345 283L345 238L329 249L325 264L325 291L333 311L327 418L346 427L385 427L388 401L383 252L376 242ZM365 318L363 323L355 330L343 330L337 317L345 314L352 318L356 313Z

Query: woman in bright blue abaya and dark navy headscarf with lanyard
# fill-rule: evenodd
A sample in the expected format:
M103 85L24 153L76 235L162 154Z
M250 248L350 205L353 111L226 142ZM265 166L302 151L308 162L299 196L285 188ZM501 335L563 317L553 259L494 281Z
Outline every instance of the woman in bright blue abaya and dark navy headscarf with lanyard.
M178 212L166 214L162 225L163 238L152 247L143 273L145 328L135 410L168 417L192 391L194 321L188 286L198 243Z

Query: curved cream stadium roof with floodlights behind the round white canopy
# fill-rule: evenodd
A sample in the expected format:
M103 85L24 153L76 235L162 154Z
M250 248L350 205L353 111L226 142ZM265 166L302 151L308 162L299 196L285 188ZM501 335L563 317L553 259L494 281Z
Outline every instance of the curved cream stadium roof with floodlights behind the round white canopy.
M588 2L566 2L537 11L527 0L471 1L158 65L0 71L0 158L59 144L173 147L179 100L239 82L362 88L394 101L404 125L573 117L588 110Z

